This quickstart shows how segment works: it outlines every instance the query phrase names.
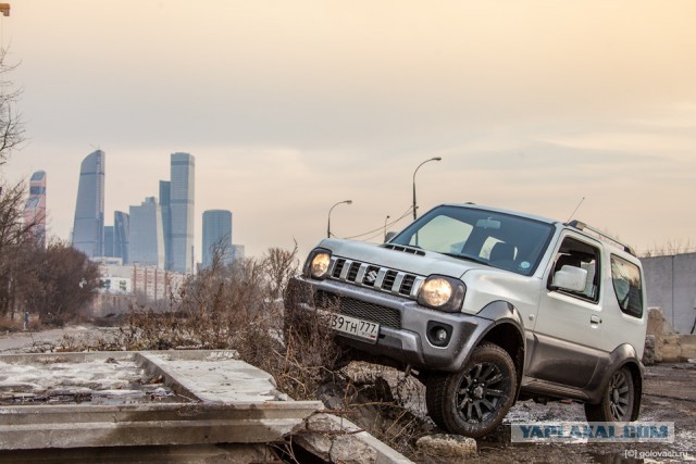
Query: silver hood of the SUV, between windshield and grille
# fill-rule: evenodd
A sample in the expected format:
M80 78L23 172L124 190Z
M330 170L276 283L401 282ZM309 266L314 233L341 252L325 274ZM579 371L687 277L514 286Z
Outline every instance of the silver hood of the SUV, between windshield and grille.
M361 261L425 277L431 274L442 274L461 278L465 272L471 269L493 269L493 267L483 264L411 247L397 246L407 250L401 251L385 248L384 244L339 239L324 239L318 247L331 250L334 256Z

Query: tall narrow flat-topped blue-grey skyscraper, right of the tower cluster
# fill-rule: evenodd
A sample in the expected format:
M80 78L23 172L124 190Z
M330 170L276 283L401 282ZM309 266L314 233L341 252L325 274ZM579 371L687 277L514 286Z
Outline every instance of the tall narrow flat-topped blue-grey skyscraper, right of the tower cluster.
M196 163L190 154L172 153L172 271L183 274L194 271L195 167Z

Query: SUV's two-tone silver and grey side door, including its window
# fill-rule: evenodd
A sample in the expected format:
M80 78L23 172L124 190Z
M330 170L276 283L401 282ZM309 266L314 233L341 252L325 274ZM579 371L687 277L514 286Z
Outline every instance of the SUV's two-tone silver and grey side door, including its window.
M564 230L558 243L555 259L544 274L546 290L542 291L530 340L526 375L583 388L602 351L601 243L572 230ZM586 272L584 289L554 285L554 275L564 266Z

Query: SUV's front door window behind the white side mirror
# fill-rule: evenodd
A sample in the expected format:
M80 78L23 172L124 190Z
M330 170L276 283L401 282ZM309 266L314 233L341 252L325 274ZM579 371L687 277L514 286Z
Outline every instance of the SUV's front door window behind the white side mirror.
M554 269L549 276L549 286L554 279L554 274L561 271L563 266L579 267L587 273L585 288L582 290L558 289L558 291L583 300L599 301L599 269L601 268L599 256L599 249L596 247L572 237L566 237L556 254Z

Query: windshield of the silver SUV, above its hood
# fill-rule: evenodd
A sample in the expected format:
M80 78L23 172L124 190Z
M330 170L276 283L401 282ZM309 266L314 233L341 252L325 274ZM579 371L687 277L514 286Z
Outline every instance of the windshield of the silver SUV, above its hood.
M554 233L550 224L493 211L438 206L389 243L531 275Z

